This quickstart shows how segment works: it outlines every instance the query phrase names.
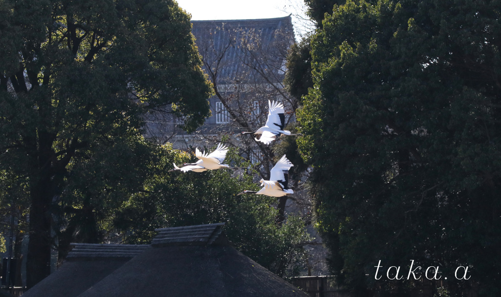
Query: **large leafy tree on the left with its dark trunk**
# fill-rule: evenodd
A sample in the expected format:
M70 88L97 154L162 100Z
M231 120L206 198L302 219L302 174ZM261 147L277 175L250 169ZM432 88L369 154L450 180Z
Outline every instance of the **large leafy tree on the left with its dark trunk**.
M209 114L190 29L172 0L0 1L0 172L29 194L29 287L50 272L53 206L74 176L130 156L95 153L127 145L148 110L172 105L187 130ZM107 165L72 175L94 157Z

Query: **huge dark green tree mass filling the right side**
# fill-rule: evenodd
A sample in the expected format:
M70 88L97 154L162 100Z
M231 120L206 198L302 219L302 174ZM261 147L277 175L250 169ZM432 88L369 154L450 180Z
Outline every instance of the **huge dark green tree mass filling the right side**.
M312 36L298 142L340 280L375 287L379 260L413 259L452 294L499 294L500 16L489 0L348 0Z

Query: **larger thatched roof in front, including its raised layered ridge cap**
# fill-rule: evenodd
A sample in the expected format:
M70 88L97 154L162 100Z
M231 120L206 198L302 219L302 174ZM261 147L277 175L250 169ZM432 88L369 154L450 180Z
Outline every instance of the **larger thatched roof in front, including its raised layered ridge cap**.
M231 247L222 225L157 229L151 247L79 297L307 296Z

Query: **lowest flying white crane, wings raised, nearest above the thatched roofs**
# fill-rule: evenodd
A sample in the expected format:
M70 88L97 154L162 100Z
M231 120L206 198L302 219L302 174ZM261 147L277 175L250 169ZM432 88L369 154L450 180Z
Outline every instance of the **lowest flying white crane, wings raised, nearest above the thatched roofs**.
M294 191L287 186L289 182L289 169L292 166L294 165L284 154L270 171L270 180L264 180L263 178L261 178L260 182L261 186L263 187L262 189L260 189L259 191L244 190L237 195L261 194L272 197L282 197L287 194L294 193Z

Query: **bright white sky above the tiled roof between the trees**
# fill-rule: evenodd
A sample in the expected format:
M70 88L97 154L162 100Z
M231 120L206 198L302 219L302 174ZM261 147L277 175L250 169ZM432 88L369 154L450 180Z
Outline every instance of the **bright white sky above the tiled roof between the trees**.
M303 0L176 0L181 8L191 13L191 19L247 19L272 18L292 13L296 34L302 29ZM299 18L298 18L299 16ZM297 37L297 36L296 36Z

